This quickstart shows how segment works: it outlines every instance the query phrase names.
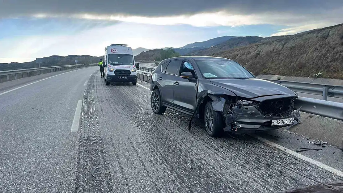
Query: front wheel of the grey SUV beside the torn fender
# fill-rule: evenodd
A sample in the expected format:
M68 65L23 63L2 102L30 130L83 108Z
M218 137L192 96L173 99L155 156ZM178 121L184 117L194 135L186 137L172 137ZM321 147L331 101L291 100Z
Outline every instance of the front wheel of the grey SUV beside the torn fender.
M212 128L210 126L210 122L212 122ZM207 102L205 105L204 124L206 132L212 137L219 137L224 132L224 121L222 114L213 110L212 101Z

